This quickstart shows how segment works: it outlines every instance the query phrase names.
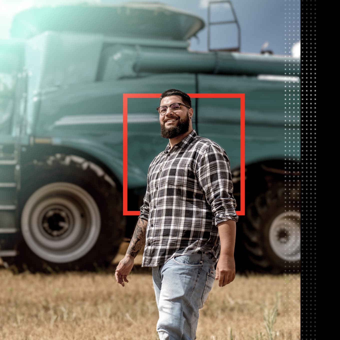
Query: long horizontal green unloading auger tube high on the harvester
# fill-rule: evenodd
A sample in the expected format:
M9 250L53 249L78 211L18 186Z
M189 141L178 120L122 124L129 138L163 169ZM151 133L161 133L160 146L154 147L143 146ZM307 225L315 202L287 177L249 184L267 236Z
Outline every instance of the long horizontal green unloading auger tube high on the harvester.
M286 57L234 52L191 52L115 44L104 49L101 79L136 77L140 72L193 72L210 74L285 75Z

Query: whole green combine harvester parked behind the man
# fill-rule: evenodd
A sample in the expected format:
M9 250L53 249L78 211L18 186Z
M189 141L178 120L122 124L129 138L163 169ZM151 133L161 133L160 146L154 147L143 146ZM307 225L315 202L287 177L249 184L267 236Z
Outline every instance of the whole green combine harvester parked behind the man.
M300 111L299 75L287 64L299 67L300 59L243 54L239 47L191 51L188 39L204 26L190 13L149 2L37 7L14 17L11 38L0 40L5 263L34 271L111 262L138 218L122 212L123 94L178 88L245 94L237 267L300 269L299 163L291 160L300 153L299 128L286 130L298 126L293 117ZM192 104L194 129L228 154L239 210L240 99ZM149 164L168 143L160 137L158 105L157 99L129 99L128 210L142 205Z

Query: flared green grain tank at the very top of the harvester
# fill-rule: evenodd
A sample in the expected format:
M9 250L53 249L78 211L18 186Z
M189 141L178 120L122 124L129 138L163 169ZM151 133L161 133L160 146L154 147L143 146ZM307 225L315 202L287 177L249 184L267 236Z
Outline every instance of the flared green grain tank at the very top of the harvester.
M72 31L186 40L203 27L201 18L161 3L84 4L28 8L15 16L11 35L30 38L45 31Z

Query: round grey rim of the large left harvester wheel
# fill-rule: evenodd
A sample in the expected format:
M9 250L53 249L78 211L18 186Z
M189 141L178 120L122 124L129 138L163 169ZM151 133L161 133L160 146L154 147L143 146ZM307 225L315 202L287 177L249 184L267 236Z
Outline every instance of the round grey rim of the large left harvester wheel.
M36 190L21 215L28 247L44 260L66 263L86 255L100 233L100 212L81 187L55 182Z

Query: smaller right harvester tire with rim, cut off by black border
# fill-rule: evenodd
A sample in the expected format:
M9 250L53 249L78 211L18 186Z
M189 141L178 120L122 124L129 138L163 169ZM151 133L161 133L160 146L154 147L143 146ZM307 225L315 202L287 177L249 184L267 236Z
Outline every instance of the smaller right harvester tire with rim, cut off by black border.
M300 271L300 195L286 188L278 183L246 207L243 242L256 271Z

